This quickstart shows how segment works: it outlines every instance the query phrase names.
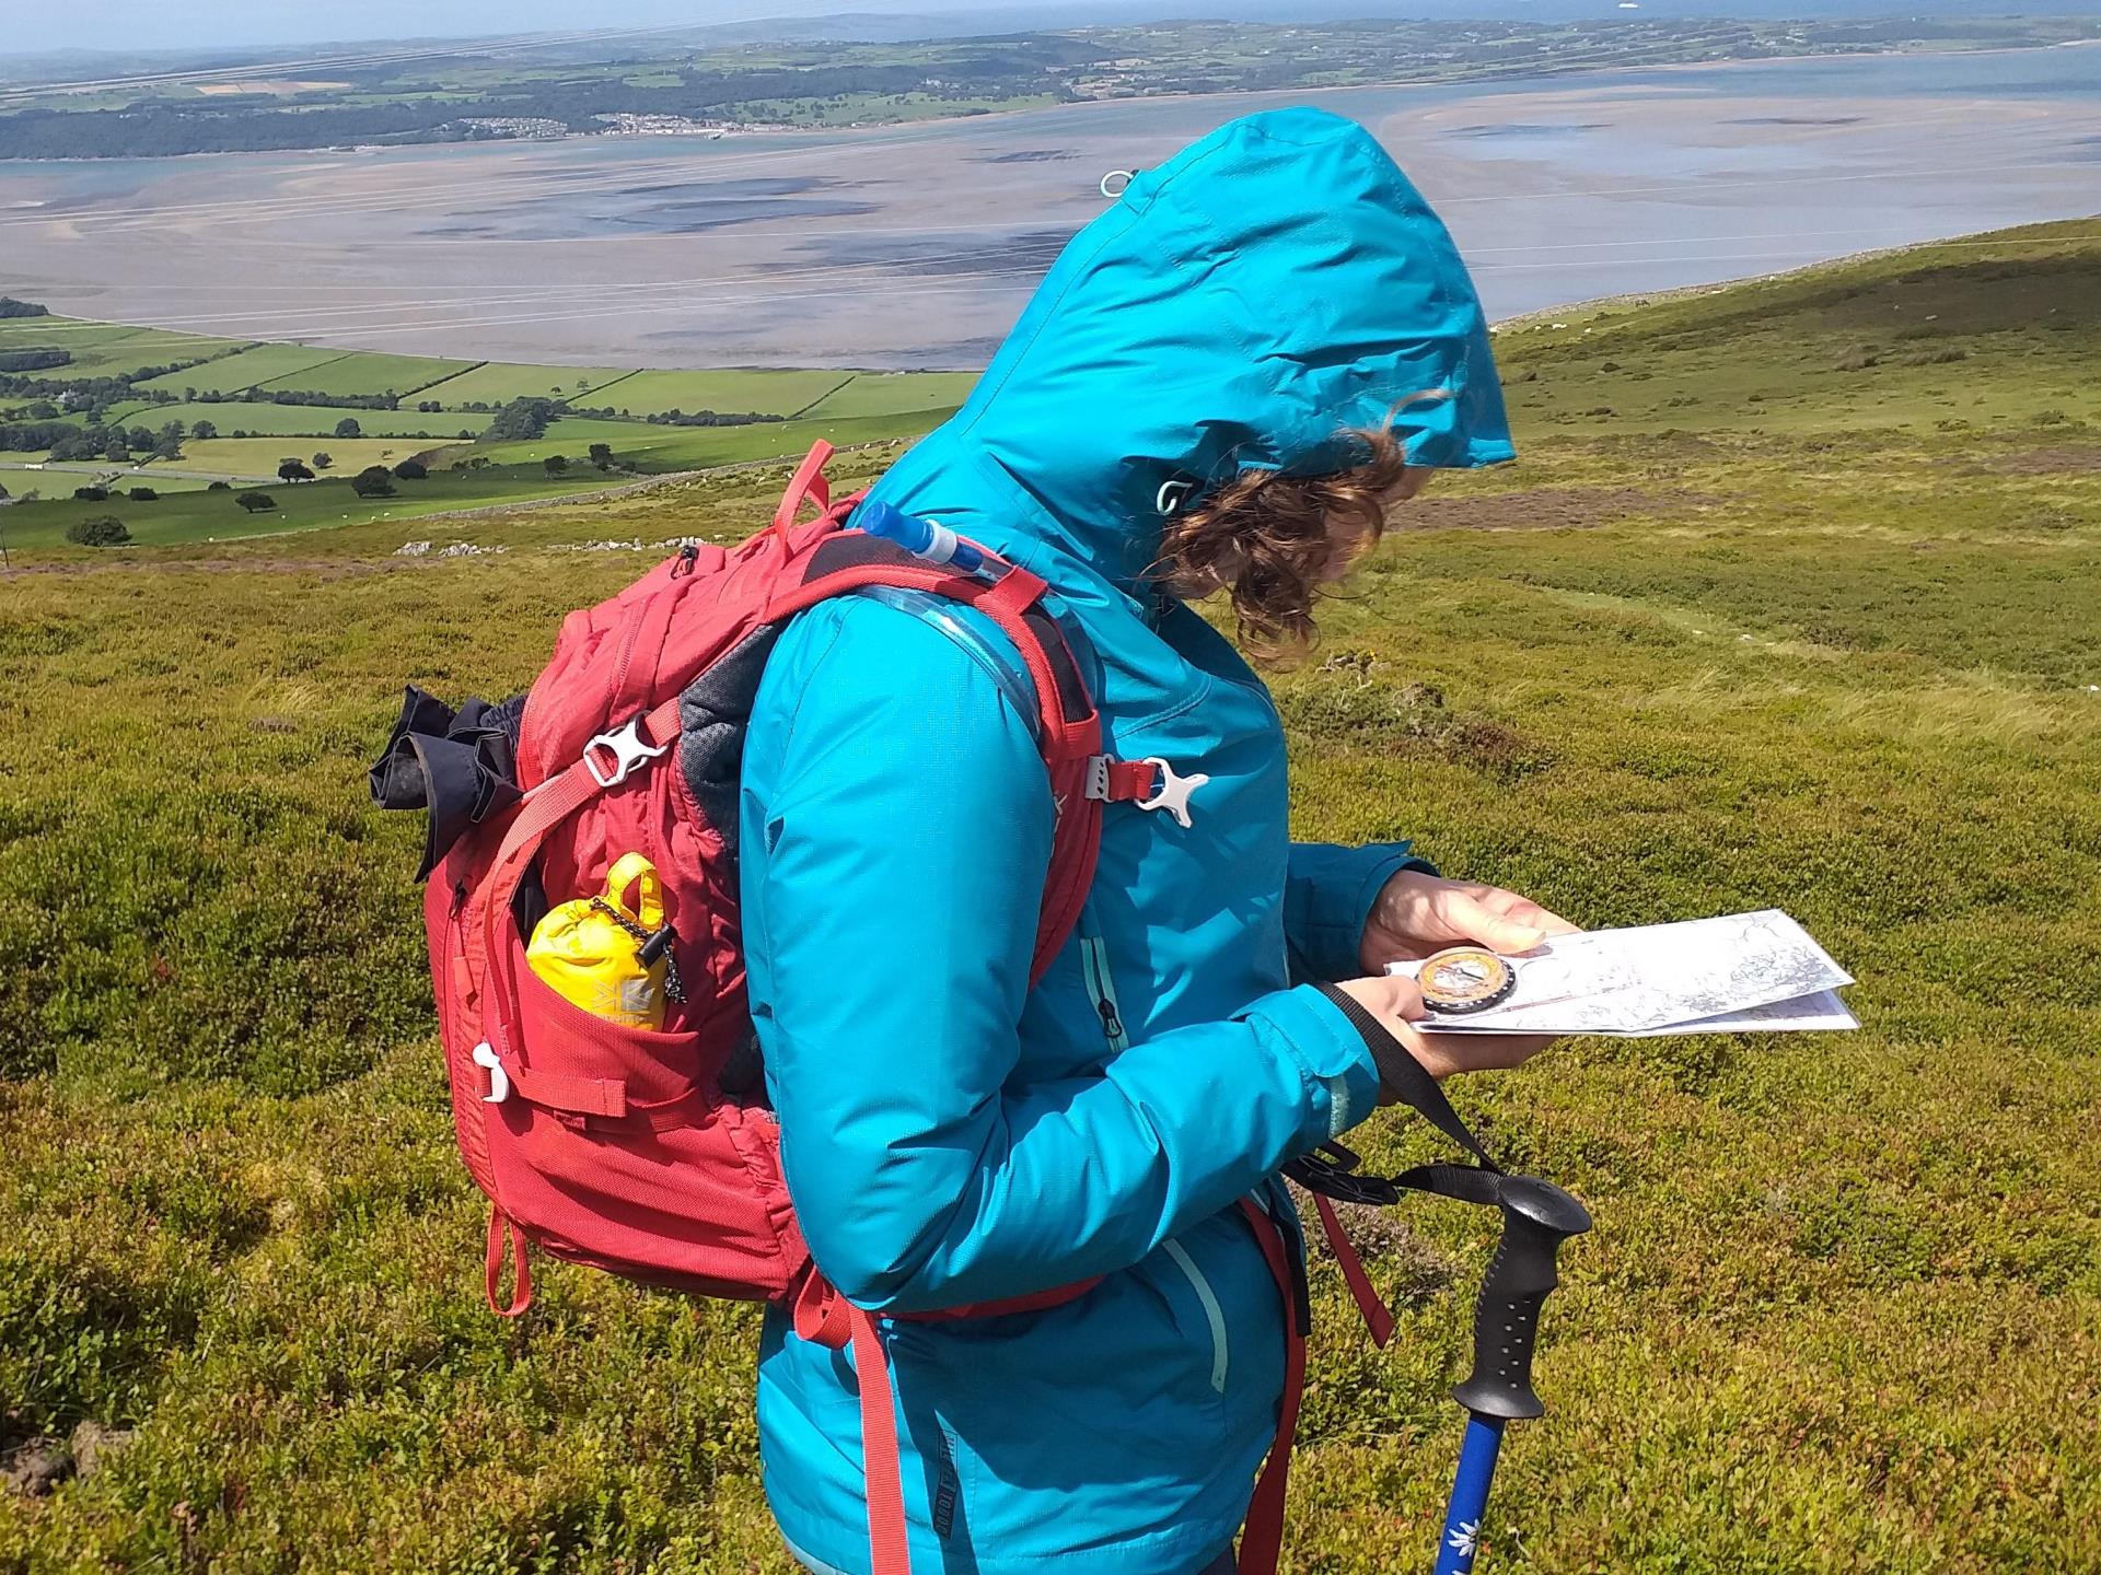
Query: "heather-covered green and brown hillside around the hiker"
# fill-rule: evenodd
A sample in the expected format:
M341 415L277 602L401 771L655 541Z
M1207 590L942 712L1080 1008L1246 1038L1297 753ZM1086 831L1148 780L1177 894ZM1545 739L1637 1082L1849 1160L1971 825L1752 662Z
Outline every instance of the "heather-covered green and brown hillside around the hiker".
M2095 233L1509 330L1523 464L1414 504L1275 678L1303 836L1586 924L1782 905L1861 981L1845 1040L1454 1086L1599 1220L1483 1569L2101 1567ZM748 1310L561 1266L481 1310L420 830L361 775L403 680L508 693L656 556L565 548L740 536L782 481L414 527L494 559L368 523L0 582L0 1449L137 1428L0 1489L0 1571L788 1575ZM1315 1575L1424 1562L1488 1247L1368 1226L1401 1336L1315 1268Z

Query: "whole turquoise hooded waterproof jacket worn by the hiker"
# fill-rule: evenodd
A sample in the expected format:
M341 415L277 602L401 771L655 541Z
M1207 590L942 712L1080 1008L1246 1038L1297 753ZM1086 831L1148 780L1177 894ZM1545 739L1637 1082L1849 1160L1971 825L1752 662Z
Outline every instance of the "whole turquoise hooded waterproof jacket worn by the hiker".
M1420 464L1511 458L1443 225L1359 126L1263 113L1141 172L876 487L1050 584L1114 754L1210 777L1187 830L1107 808L1080 932L1034 989L1050 796L1013 653L849 596L767 666L744 941L817 1264L889 1312L1103 1277L1044 1312L887 1325L914 1569L1179 1575L1248 1506L1284 1310L1233 1203L1374 1109L1364 1042L1296 981L1359 972L1410 855L1290 842L1269 693L1143 575L1177 491L1349 464L1340 428L1395 407ZM767 1495L838 1571L868 1569L855 1407L849 1357L769 1319Z

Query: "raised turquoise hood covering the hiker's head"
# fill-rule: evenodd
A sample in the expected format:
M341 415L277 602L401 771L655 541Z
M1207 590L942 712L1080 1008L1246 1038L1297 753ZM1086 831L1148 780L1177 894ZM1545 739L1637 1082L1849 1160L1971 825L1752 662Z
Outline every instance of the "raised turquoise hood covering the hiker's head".
M1038 504L1019 533L1130 584L1166 512L1248 468L1345 468L1389 416L1412 464L1515 458L1443 223L1361 126L1282 109L1132 176L876 496L941 506L996 468Z

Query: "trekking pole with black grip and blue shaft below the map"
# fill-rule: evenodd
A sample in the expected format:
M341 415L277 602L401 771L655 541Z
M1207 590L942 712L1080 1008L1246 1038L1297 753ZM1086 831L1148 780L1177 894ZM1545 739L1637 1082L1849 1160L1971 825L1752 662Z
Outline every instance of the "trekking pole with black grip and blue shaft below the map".
M1473 1569L1504 1424L1546 1413L1532 1388L1540 1306L1559 1283L1555 1256L1561 1243L1590 1228L1582 1203L1536 1176L1502 1176L1496 1201L1502 1208L1502 1241L1473 1308L1473 1373L1452 1390L1452 1399L1466 1407L1466 1436L1437 1539L1437 1575L1469 1575Z

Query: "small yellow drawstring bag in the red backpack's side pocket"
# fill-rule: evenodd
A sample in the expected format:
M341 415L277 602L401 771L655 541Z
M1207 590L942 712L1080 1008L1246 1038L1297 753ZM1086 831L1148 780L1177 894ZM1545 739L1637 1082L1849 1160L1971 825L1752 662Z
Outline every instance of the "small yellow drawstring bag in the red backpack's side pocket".
M628 890L635 907L626 905ZM525 962L563 1000L630 1029L664 1027L664 1002L683 1000L670 958L677 937L664 922L656 865L628 853L605 876L603 897L578 897L548 911L532 932Z

